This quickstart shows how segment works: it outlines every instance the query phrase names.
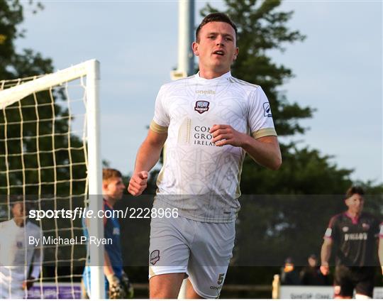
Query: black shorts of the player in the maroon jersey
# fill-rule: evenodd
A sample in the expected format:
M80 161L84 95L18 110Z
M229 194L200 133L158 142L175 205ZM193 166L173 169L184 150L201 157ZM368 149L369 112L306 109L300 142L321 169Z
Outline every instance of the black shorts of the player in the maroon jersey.
M374 266L336 266L334 276L335 297L353 297L354 288L357 294L372 297L374 273Z

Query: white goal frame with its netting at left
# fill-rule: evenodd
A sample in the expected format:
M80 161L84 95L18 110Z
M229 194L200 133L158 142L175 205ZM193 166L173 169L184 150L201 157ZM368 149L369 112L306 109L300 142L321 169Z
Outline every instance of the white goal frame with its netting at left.
M102 262L103 250L89 251L82 218L73 216L101 195L98 81L96 60L0 81L0 297L79 297L89 252ZM103 236L102 220L89 231ZM101 296L104 276L94 266ZM36 281L27 290L29 276Z

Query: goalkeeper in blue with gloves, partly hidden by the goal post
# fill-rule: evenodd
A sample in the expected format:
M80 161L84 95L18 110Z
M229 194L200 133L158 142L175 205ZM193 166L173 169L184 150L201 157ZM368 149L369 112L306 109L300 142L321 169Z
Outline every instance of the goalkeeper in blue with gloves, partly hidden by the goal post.
M123 271L123 258L121 254L120 224L114 217L113 206L123 197L126 186L123 184L122 175L118 170L104 168L102 170L102 194L104 202L104 238L112 239L111 244L105 244L104 274L106 297L111 299L124 299L133 297L133 287L128 276ZM106 213L109 212L109 213ZM109 217L111 216L111 217ZM87 224L87 221L85 221ZM87 227L84 227L84 235L89 237ZM83 277L83 296L91 297L90 267L86 266Z

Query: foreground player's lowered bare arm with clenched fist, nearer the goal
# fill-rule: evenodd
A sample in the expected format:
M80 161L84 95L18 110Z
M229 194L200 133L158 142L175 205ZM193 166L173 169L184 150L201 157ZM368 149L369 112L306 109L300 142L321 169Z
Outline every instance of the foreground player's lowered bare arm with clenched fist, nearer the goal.
M149 129L148 136L138 149L135 158L135 168L128 186L128 192L131 195L141 195L145 190L148 182L148 172L160 159L161 150L166 139L167 133L157 133Z

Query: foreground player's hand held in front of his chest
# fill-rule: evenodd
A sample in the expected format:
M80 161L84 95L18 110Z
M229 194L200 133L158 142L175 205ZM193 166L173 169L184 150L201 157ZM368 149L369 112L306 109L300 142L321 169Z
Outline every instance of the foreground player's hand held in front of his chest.
M213 135L212 142L216 146L243 146L243 142L248 135L235 131L232 126L227 124L214 124L210 129L210 133Z

